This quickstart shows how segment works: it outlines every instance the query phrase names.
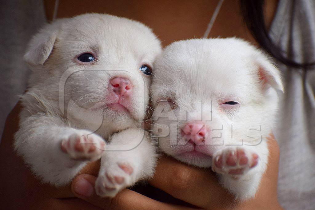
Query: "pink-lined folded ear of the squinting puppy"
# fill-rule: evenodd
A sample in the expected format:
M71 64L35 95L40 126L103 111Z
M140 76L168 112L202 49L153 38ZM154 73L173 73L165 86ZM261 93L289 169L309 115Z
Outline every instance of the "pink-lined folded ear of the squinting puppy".
M258 65L258 76L263 87L268 88L268 86L271 86L284 92L280 71L265 54L261 53L256 57L256 64Z

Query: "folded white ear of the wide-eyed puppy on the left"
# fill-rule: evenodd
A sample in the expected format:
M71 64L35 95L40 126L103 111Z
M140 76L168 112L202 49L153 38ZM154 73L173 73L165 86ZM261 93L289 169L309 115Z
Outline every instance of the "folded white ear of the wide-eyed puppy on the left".
M48 59L57 38L58 23L47 24L35 34L24 55L24 60L31 65L43 65Z

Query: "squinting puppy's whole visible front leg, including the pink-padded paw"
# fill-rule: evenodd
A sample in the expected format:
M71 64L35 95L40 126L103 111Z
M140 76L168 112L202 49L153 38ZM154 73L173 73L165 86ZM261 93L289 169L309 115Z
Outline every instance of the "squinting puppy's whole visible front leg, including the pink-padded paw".
M222 185L242 201L255 196L267 162L264 141L257 146L225 146L215 153L212 169L220 174Z

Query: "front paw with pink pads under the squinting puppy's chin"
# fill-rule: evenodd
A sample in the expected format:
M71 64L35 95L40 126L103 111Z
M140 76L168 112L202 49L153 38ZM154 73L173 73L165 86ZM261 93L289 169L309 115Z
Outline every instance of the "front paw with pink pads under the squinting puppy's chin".
M257 166L259 156L241 147L228 147L218 151L213 158L212 170L238 176Z

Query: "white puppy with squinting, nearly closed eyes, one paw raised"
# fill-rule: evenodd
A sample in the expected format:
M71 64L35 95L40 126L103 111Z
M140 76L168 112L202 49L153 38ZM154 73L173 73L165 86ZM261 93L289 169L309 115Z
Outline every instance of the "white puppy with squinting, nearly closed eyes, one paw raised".
M236 38L178 41L153 74L152 133L161 150L212 167L236 199L254 197L268 162L276 90L283 91L266 54Z

